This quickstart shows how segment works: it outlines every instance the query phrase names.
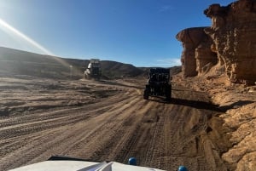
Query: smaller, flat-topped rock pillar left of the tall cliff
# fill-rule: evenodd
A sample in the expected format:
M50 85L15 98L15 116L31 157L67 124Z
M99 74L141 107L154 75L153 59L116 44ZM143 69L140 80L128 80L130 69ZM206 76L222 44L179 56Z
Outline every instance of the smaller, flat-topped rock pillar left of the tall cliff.
M211 50L212 39L204 31L206 28L187 28L177 33L177 40L183 43L181 61L184 77L194 77L217 63L217 54Z

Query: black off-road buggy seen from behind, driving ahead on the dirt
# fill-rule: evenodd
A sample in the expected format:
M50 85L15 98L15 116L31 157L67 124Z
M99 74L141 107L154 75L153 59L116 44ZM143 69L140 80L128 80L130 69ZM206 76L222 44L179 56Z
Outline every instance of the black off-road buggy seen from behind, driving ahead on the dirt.
M151 68L148 75L148 84L144 90L143 98L149 96L164 96L171 100L172 84L170 83L170 70L166 68Z

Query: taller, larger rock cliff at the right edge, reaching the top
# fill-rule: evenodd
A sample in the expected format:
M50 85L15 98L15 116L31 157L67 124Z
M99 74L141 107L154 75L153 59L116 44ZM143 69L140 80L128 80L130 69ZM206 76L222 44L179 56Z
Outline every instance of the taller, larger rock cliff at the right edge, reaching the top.
M232 83L256 82L256 0L240 0L226 7L212 4L204 11L212 19L206 33L212 37L218 59Z

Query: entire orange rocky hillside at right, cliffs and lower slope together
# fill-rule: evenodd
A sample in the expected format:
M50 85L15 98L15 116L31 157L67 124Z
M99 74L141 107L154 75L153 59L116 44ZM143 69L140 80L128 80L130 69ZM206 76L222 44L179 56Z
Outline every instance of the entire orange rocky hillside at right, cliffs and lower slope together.
M174 81L206 92L224 111L232 147L222 158L232 170L256 170L256 0L204 11L212 26L177 33L183 74ZM219 137L221 139L221 137Z

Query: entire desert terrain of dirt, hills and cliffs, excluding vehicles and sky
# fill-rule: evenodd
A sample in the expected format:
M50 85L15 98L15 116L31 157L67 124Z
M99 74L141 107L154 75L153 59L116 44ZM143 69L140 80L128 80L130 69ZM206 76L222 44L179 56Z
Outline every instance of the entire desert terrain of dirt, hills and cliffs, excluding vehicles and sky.
M177 33L172 100L143 100L147 67L0 48L0 170L78 157L175 171L256 170L256 6L212 4L212 26ZM244 10L245 9L245 10Z

